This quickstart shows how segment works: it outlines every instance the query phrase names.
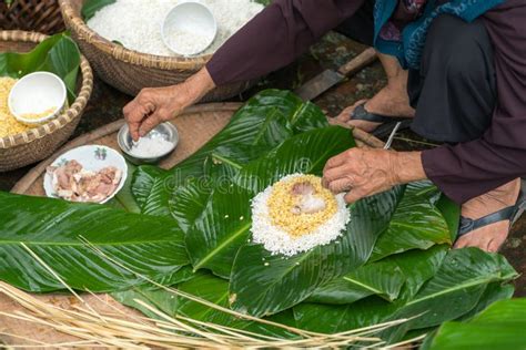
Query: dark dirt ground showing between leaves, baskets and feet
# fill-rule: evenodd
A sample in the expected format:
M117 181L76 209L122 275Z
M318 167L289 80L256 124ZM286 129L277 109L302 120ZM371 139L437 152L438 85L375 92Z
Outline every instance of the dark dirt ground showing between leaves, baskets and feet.
M347 60L364 50L365 47L352 42L344 37L331 33L320 43L314 45L308 53L303 55L290 66L263 79L250 91L232 99L232 101L245 101L255 92L267 89L295 89L303 82L313 78L324 69L336 69ZM385 76L375 63L370 68L333 87L314 102L318 104L330 116L337 115L345 106L353 104L356 100L372 96L385 84ZM122 117L121 109L131 97L120 93L100 80L95 80L93 95L87 107L84 116L72 137L90 132L104 124ZM399 133L393 147L398 151L424 150L436 146L433 142L423 140L411 131ZM0 191L9 191L31 167L17 169L9 173L0 173ZM503 248L503 254L510 264L523 274L516 280L516 296L526 297L526 215L515 225L513 231Z

